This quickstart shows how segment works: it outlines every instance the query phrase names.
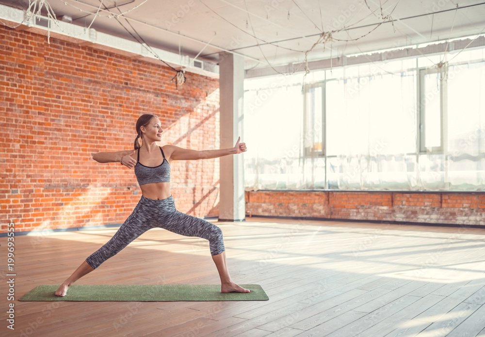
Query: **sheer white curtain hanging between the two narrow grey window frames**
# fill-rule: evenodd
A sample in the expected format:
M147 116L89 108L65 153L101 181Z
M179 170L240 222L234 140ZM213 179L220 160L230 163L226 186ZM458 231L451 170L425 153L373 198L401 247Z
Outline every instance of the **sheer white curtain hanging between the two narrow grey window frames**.
M328 187L413 189L415 72L361 66L359 73L326 82Z

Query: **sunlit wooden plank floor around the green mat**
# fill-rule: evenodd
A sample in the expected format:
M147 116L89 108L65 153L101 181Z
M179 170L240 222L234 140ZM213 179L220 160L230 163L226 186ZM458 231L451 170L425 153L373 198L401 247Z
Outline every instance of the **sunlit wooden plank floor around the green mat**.
M485 336L485 230L248 218L217 223L233 279L269 301L19 302L116 231L16 236L15 331L1 336ZM7 239L0 238L6 257ZM207 241L154 229L77 284L217 284Z

